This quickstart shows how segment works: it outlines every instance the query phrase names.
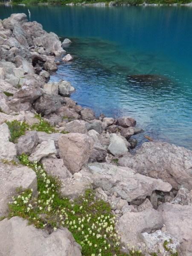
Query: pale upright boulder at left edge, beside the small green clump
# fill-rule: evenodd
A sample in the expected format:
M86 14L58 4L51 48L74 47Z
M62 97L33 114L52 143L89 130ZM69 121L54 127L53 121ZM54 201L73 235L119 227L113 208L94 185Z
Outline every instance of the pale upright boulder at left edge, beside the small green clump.
M6 159L11 161L17 155L15 144L9 141L10 138L8 125L3 123L0 125L0 160Z

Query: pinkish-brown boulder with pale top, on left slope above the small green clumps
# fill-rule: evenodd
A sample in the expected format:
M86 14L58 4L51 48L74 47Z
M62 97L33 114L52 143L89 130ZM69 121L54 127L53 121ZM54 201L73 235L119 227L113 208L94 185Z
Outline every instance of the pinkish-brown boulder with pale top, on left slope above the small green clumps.
M43 94L41 88L38 85L34 84L24 84L17 93L14 94L14 99L20 99L21 103L35 102Z

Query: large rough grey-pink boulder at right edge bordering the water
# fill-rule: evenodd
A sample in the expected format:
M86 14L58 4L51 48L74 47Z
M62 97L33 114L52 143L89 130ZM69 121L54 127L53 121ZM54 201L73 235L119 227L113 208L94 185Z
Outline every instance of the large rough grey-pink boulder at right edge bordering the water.
M192 151L183 147L162 142L143 143L135 155L122 157L119 165L160 178L176 189L180 185L192 189Z

